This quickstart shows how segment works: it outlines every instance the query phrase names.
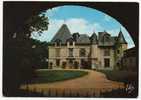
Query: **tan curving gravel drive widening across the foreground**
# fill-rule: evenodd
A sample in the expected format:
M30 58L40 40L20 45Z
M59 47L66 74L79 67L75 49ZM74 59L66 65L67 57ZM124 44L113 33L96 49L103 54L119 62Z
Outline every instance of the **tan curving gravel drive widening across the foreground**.
M86 94L95 93L97 96L102 92L112 91L114 89L124 88L124 83L108 80L105 74L93 70L82 70L87 71L88 74L65 81L58 81L53 83L41 83L41 84L28 84L22 85L21 89L28 89L29 91L43 92L47 93L48 90L55 90L57 93L62 94L63 91Z

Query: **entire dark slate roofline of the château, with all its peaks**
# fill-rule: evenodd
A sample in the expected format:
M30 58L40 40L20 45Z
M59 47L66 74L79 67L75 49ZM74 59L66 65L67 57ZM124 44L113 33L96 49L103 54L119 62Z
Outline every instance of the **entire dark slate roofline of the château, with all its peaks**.
M98 36L96 33L93 33L91 37L87 34L74 33L71 35L66 24L63 24L58 30L56 35L51 40L50 44L54 44L56 41L60 41L62 44L65 44L67 41L75 41L76 44L98 44L98 46L114 46L115 43L127 43L122 32L119 32L117 36L111 36L106 31L99 32Z

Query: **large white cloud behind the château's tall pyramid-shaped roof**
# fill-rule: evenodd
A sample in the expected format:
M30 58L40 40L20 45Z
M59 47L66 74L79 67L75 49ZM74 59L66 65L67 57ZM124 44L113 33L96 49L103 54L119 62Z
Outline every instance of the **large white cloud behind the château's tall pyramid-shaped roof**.
M50 19L48 30L44 31L41 36L32 36L34 39L41 41L50 41L56 32L59 30L62 24L67 24L71 33L79 32L80 34L91 35L94 31L100 31L102 26L99 23L88 23L85 19L82 18L71 18L67 20L61 19Z

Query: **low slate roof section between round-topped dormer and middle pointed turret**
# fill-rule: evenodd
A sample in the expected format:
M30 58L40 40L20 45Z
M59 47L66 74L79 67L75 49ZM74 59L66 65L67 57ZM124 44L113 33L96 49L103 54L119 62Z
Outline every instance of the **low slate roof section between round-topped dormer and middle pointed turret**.
M79 38L77 39L76 43L80 44L87 44L90 43L89 36L87 34L80 34Z

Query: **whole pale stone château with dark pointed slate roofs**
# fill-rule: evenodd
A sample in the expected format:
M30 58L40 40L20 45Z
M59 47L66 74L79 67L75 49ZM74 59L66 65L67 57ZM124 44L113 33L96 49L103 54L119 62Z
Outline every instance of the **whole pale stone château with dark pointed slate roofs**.
M48 46L49 67L118 69L119 61L127 49L127 42L120 30L118 36L106 31L87 34L71 34L63 24Z

